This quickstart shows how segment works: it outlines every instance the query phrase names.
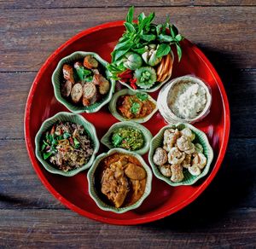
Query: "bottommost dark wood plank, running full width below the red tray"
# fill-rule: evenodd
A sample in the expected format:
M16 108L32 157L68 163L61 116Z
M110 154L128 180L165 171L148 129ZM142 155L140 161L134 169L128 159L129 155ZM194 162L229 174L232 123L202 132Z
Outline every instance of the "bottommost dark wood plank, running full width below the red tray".
M193 216L193 214L190 214ZM54 218L53 218L54 217ZM96 223L70 211L0 211L0 243L22 248L226 248L255 246L256 210L227 211L208 223L177 215L138 226ZM210 221L210 222L209 222Z

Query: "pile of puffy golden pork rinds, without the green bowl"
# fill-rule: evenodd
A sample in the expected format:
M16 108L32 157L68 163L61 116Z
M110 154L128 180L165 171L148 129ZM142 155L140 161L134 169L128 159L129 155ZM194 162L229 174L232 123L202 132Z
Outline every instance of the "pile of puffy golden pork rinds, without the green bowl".
M153 155L154 164L163 176L171 177L172 182L182 182L186 171L192 176L201 174L207 165L207 157L202 145L194 140L195 133L189 128L164 131L163 146L156 148Z

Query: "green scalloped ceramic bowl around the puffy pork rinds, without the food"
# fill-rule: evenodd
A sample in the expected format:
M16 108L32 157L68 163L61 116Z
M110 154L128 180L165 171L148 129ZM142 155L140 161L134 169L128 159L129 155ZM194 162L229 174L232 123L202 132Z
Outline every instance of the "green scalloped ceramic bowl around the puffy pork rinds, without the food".
M186 170L186 171L183 171L184 179L182 182L172 182L170 177L164 177L160 173L158 166L154 164L154 162L153 162L154 151L156 148L162 147L162 143L163 143L163 139L164 139L164 132L166 129L177 128L177 130L183 130L186 127L195 133L194 141L201 143L201 145L204 149L203 153L207 157L207 165L205 166L205 168L203 169L201 174L197 177L192 176L189 173L189 171ZM153 139L150 142L148 160L149 160L149 163L154 172L154 176L159 178L160 180L167 182L171 186L192 185L196 181L198 181L201 177L205 177L207 175L208 171L210 170L210 165L212 163L212 159L213 159L213 151L212 151L212 147L211 147L210 143L208 142L206 134L204 132L202 132L201 130L196 129L193 125L183 124L183 123L177 123L176 125L166 125L159 131L159 133L157 133L153 137Z

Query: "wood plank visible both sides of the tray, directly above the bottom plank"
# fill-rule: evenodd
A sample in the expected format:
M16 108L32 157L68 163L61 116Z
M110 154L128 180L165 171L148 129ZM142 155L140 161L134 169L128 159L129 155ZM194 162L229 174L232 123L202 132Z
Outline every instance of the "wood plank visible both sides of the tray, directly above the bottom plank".
M230 139L224 164L193 210L256 208L256 138ZM0 141L0 209L65 208L44 188L32 168L24 141ZM221 202L221 206L215 204Z

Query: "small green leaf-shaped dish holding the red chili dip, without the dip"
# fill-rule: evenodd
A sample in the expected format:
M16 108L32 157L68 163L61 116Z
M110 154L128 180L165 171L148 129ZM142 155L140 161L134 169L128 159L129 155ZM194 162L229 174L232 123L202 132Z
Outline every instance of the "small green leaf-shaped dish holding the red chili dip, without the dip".
M144 93L143 91L140 91L141 93ZM116 119L119 119L119 121L133 121L133 122L137 122L137 123L145 123L147 122L149 119L152 118L152 116L154 115L154 113L157 112L158 107L157 107L157 103L154 100L154 98L152 98L151 96L148 95L148 100L152 101L155 105L154 111L152 113L150 113L148 116L146 116L145 118L142 119L125 119L121 114L119 114L119 112L116 109L116 103L119 99L119 96L125 96L125 95L130 95L130 96L134 96L137 94L137 91L134 90L130 90L130 89L123 89L123 90L119 90L118 92L116 92L113 95L112 100L109 102L109 111L110 113L112 113L113 117Z

